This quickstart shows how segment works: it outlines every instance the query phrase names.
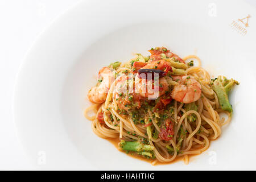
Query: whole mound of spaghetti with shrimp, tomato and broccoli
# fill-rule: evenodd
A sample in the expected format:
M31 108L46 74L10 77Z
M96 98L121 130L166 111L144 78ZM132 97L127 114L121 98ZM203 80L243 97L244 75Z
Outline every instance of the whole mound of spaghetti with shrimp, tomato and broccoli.
M181 59L165 47L149 52L98 72L97 84L88 92L93 105L85 117L98 137L118 139L121 151L152 164L180 157L187 164L189 156L207 150L230 122L228 94L239 83L224 76L210 78L196 55Z

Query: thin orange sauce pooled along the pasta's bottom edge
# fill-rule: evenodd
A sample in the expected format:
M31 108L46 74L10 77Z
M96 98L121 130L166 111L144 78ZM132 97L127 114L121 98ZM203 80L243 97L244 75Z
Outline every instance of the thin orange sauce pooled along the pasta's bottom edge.
M124 152L126 153L125 151L122 151L119 146L118 146L118 143L120 142L119 138L107 138L106 140L108 140L110 143L112 143L115 148L117 148L117 150L119 150L120 152ZM139 159L139 160L143 160L144 162L147 162L147 163L152 163L154 162L156 159L147 159L147 158L144 158L143 156L141 155L137 155L137 154L134 154L133 152L129 152L127 155L129 155L131 158L134 158L134 159ZM191 160L191 157L193 156L196 156L196 155L200 155L200 154L192 154L192 155L189 155L188 156L188 159ZM156 162L155 163L155 166L156 165L166 165L166 164L172 164L172 163L176 163L180 160L184 160L184 156L177 156L174 160L172 160L171 162L166 162L166 163L161 163L161 162Z

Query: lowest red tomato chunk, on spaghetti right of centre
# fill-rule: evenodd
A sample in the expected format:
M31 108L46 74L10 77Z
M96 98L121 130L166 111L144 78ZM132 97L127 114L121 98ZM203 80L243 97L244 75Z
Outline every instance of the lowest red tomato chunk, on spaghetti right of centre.
M174 122L171 119L166 119L166 122L160 128L159 138L170 141L172 137L174 137Z

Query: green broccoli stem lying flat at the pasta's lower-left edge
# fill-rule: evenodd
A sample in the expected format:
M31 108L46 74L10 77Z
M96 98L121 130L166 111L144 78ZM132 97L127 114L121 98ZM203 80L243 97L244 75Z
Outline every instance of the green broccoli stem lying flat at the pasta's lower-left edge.
M143 144L138 141L125 141L121 140L119 146L122 148L122 150L126 151L134 151L134 152L145 152L145 151L153 151L154 147L149 144Z

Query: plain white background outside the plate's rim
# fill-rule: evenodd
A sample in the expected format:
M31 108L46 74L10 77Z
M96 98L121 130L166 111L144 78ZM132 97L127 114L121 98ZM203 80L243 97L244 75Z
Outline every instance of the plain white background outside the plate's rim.
M79 0L0 0L0 170L35 169L24 154L13 121L16 73L36 36L77 2ZM255 0L247 2L256 5Z

